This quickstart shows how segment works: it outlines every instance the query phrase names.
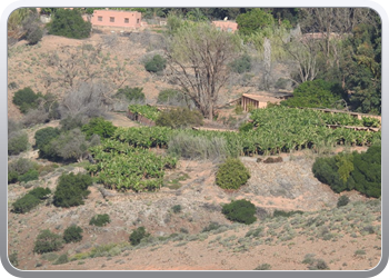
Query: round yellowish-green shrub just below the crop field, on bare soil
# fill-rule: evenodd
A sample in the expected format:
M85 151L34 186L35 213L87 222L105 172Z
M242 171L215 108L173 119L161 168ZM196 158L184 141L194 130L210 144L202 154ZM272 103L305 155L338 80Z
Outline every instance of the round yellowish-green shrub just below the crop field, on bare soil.
M249 170L237 158L229 158L220 166L216 183L222 189L239 189L250 178Z

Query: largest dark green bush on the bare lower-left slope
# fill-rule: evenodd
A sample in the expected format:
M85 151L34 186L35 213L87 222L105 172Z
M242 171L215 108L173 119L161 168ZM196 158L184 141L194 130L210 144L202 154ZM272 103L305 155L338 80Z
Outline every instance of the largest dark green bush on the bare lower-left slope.
M62 173L53 197L56 207L74 207L83 205L83 199L90 193L88 187L92 185L92 178L83 173Z

